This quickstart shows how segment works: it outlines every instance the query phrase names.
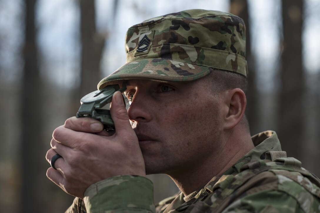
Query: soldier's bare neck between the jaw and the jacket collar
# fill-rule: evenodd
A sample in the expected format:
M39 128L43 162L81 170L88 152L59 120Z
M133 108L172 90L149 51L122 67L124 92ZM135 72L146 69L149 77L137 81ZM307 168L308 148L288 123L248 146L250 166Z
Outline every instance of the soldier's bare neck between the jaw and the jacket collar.
M185 196L205 186L214 176L220 176L254 148L250 133L227 133L221 144L224 146L213 150L212 155L193 159L196 163L191 167L167 173Z

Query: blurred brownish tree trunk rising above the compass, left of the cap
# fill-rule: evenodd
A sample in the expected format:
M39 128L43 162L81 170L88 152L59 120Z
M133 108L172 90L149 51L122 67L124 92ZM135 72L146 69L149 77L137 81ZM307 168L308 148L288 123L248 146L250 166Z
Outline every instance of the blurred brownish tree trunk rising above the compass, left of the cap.
M96 90L100 81L100 59L105 38L96 32L95 1L80 0L81 80L78 100Z

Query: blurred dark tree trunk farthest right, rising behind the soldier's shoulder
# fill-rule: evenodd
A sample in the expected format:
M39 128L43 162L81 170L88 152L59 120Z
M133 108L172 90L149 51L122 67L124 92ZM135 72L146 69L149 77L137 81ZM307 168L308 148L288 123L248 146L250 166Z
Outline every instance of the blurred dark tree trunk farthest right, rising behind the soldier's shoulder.
M282 88L278 136L288 156L300 158L303 143L302 0L283 0Z

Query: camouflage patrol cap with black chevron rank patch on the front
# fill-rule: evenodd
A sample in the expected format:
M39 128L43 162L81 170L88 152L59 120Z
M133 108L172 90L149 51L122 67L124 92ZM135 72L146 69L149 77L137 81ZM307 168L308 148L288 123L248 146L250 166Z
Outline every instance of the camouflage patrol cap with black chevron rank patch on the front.
M148 19L126 34L126 64L98 84L128 79L183 82L212 68L247 76L245 26L230 13L186 10Z

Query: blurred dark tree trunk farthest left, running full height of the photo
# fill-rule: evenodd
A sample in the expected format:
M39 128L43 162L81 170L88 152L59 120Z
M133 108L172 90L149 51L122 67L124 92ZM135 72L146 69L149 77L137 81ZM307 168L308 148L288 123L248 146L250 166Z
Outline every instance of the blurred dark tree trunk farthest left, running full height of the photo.
M25 0L25 43L23 49L24 72L21 82L21 172L22 189L19 212L44 212L43 202L39 191L41 179L45 174L40 165L45 163L42 140L42 98L40 90L40 75L37 60L36 28L35 28L36 0Z

